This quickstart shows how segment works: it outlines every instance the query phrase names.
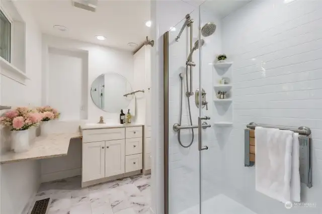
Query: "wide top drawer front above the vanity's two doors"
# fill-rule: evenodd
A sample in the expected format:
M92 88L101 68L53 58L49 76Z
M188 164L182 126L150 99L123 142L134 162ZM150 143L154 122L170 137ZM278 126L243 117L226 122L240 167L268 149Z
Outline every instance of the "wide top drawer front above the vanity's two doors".
M83 143L125 139L125 128L83 131Z

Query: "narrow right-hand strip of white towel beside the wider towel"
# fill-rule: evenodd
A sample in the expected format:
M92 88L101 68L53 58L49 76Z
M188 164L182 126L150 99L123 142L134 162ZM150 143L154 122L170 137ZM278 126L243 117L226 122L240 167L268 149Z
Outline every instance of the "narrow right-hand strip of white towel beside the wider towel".
M301 201L301 181L300 181L300 146L298 133L293 133L292 149L292 175L291 175L291 199L296 202Z

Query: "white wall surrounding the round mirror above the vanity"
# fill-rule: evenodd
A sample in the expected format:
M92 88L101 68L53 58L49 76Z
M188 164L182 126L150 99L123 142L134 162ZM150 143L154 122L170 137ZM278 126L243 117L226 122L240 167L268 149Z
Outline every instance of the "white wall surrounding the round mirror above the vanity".
M133 54L123 51L71 39L64 39L49 35L43 35L44 46L73 51L88 52L88 85L87 91L91 90L92 82L102 73L115 72L123 75L131 84L133 82ZM45 53L46 54L46 53ZM46 64L46 59L43 59ZM46 65L44 65L46 69ZM48 69L48 68L47 68ZM46 80L43 80L46 81ZM48 92L46 92L48 94ZM92 101L88 93L88 119L98 122L100 116L105 122L118 123L120 113L108 113L100 110ZM46 104L47 98L43 99Z

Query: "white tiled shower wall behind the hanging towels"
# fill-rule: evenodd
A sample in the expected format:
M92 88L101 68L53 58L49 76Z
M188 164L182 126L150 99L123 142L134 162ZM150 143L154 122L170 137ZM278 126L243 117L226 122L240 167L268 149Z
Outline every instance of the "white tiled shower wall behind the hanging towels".
M227 195L259 214L321 213L322 2L252 1L223 19L223 51L233 64L233 131L224 153ZM255 168L244 167L244 129L250 122L308 126L313 138L313 187L285 209L255 191Z

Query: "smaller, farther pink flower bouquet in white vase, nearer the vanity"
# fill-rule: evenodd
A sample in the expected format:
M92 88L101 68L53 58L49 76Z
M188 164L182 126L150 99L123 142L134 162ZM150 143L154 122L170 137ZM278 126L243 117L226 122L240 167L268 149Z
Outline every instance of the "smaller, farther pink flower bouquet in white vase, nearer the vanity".
M37 111L42 115L40 131L42 136L47 136L51 131L51 121L58 119L60 113L50 106L38 107Z

